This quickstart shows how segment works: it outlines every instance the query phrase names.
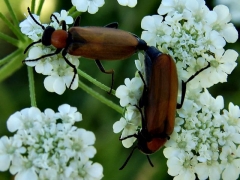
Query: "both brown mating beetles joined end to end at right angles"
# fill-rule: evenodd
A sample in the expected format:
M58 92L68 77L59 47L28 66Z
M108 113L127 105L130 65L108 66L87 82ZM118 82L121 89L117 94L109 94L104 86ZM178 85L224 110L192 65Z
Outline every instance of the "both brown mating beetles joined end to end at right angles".
M120 140L131 137L137 138L138 143L134 149L138 148L147 154L147 158L152 165L148 155L161 148L173 132L175 111L176 108L181 108L183 104L186 84L197 74L208 68L210 64L196 72L186 82L182 81L181 103L177 104L178 77L175 62L171 56L162 54L155 47L149 47L145 41L137 36L117 29L117 23L111 23L105 27L78 27L80 21L80 17L78 17L74 26L68 31L66 30L65 21L60 22L62 25L61 30L55 30L51 26L45 28L38 23L29 8L28 12L35 23L42 27L44 33L42 39L31 43L25 52L32 45L40 42L45 46L53 45L56 47L56 51L37 59L25 60L24 62L37 61L62 53L66 63L74 69L74 76L70 87L76 76L77 69L66 58L67 53L94 59L103 73L112 74L112 89L114 71L106 71L100 60L121 60L131 56L138 50L144 50L146 82L142 74L139 73L144 82L144 91L139 105L136 105L142 115L142 129L137 134L124 137ZM52 17L57 20L54 15ZM141 108L144 108L143 113ZM134 149L120 169L125 167Z

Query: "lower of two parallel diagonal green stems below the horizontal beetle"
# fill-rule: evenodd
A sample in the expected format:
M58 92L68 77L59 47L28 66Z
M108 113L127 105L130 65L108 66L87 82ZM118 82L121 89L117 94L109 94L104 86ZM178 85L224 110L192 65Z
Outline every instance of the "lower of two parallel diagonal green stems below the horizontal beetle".
M115 111L119 112L120 114L123 114L123 109L120 106L116 105L112 101L108 100L104 96L102 96L99 93L97 93L96 91L92 90L90 87L88 87L83 82L79 81L78 85L79 85L80 88L82 88L84 91L86 91L88 94L90 94L94 98L96 98L99 101L101 101L103 104L106 104L107 106L111 107L112 109L114 109Z

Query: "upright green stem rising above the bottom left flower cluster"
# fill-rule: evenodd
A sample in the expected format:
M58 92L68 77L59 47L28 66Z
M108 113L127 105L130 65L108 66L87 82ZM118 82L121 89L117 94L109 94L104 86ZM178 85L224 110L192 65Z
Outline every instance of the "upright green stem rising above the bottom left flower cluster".
M35 87L34 87L33 68L28 66L27 69L28 69L28 80L29 80L29 91L30 91L31 106L32 107L37 107Z

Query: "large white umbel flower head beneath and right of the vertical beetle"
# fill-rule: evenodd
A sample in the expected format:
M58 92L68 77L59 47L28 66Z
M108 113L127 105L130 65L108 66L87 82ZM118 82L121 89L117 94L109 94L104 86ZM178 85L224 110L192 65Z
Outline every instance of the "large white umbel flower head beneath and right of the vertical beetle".
M187 84L186 97L177 110L174 132L165 144L164 156L168 159L168 173L174 179L237 179L240 174L240 110L229 103L224 109L222 96L214 98L207 88L227 81L236 67L238 53L225 50L226 42L233 43L238 33L230 23L226 6L213 10L203 0L163 0L159 15L142 20L142 39L148 45L169 54L176 62L179 81L186 81L198 70L210 67ZM144 74L143 56L136 61L137 70ZM138 73L132 80L139 78ZM140 81L142 82L142 81ZM121 85L116 90L125 112L113 125L121 138L141 130L141 114L134 104L139 102L142 85L137 81ZM125 86L125 87L124 87ZM121 91L120 91L121 90ZM134 91L133 91L134 90ZM139 95L140 94L140 95ZM179 93L179 98L180 97ZM134 109L135 108L135 109ZM161 110L157 110L161 113ZM123 140L123 146L133 145L135 137Z

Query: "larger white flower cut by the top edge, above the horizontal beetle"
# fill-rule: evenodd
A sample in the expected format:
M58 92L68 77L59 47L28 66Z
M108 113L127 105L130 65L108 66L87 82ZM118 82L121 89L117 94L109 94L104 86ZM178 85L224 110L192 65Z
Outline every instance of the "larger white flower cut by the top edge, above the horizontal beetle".
M72 0L72 4L76 6L78 11L88 11L90 14L95 14L104 3L104 0Z

